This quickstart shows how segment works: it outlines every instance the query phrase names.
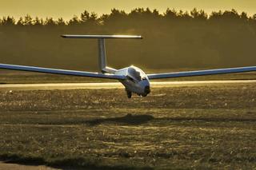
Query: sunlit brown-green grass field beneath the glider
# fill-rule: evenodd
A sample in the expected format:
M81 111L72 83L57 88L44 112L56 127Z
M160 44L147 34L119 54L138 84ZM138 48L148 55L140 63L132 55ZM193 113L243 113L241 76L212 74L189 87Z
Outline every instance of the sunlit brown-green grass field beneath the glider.
M0 91L0 160L88 169L255 169L256 85Z

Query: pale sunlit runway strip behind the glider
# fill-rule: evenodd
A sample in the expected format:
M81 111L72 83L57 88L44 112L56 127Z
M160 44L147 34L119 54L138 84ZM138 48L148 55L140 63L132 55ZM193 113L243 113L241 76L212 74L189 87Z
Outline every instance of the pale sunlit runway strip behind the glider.
M153 81L152 88L201 86L201 85L232 85L256 83L256 80L235 81ZM53 90L53 89L123 89L119 82L102 83L40 83L40 84L3 84L0 90Z

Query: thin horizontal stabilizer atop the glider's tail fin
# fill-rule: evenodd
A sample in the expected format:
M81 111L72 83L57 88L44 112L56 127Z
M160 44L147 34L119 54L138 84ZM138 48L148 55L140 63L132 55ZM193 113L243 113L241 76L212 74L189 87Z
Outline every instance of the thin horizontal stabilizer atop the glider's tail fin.
M142 39L140 35L62 35L62 38Z

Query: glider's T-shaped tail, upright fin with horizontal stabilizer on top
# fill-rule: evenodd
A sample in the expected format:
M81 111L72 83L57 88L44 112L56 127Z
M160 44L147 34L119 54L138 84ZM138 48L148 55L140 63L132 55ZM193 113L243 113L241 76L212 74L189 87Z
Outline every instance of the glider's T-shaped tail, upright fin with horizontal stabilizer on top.
M62 35L62 38L98 38L98 66L102 73L114 73L116 69L106 66L105 39L142 39L136 35Z

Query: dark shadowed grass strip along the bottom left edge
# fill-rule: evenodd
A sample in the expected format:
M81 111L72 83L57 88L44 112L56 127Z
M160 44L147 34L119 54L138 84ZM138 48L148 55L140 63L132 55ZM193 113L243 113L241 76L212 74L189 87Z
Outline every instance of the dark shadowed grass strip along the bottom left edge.
M151 167L132 167L126 165L103 165L100 164L100 160L92 160L90 158L63 158L59 160L50 160L46 161L41 157L36 156L21 156L15 154L3 154L0 155L0 160L7 164L23 164L23 165L46 165L51 168L62 168L62 169L116 169L116 170L146 170L146 169L154 169Z

